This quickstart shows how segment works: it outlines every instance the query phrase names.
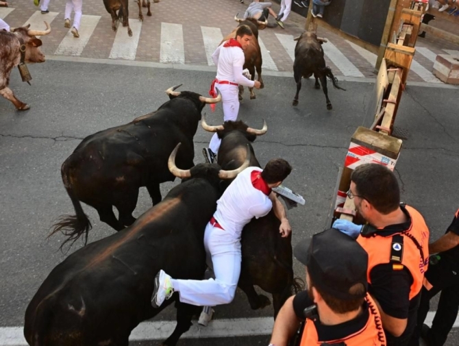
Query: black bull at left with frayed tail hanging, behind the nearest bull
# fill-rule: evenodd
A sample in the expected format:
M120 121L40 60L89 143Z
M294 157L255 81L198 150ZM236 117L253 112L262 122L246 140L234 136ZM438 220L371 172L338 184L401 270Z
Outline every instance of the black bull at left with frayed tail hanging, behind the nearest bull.
M174 91L178 87L166 90L170 101L156 112L82 140L61 169L75 215L62 216L51 235L62 231L69 236L66 241L82 234L87 239L91 224L80 201L95 208L100 220L117 231L132 225L138 189L147 187L154 206L161 201L160 183L175 180L167 169L167 159L177 143L182 143L177 164L183 169L194 165L193 136L201 111L206 103L220 101L221 95L210 99L195 92Z

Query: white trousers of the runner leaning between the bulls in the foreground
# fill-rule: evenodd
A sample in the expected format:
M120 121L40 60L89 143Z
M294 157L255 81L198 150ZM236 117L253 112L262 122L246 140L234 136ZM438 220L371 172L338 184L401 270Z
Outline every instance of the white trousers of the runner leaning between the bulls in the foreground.
M172 280L182 303L196 306L229 304L234 299L242 260L240 239L208 223L204 246L212 258L215 280Z

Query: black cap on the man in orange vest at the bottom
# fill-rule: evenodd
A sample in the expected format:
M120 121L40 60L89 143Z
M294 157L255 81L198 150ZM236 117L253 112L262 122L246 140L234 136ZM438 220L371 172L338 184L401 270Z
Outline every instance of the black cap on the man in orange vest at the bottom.
M363 298L367 293L367 251L347 234L330 228L301 240L293 254L306 265L310 279L320 291L343 300ZM349 292L359 283L364 285L363 293Z

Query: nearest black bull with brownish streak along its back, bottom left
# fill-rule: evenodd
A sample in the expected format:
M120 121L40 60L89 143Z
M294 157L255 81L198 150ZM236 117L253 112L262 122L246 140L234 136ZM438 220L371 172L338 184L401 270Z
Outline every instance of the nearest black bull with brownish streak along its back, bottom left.
M177 148L169 166L184 177L174 163ZM190 328L197 307L180 303L176 293L153 309L154 277L164 269L175 278L203 279L204 230L223 193L221 178L234 177L248 165L249 160L239 170L224 172L217 164L198 164L189 171L191 179L171 189L133 225L90 243L58 264L27 306L27 343L127 346L138 323L176 301L177 326L164 342L175 345Z

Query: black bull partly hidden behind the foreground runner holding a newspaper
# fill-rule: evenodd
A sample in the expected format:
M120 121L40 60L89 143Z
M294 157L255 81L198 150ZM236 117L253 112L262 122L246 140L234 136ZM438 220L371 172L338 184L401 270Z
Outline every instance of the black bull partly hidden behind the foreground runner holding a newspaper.
M252 129L243 121L225 121L220 126L210 126L203 116L203 129L216 132L221 138L217 163L224 169L235 169L245 160L247 147L251 152L250 166L260 167L251 143L256 136L268 130L266 122L262 129ZM223 182L229 185L231 181ZM242 233L241 274L238 282L249 299L251 308L263 308L269 299L258 295L253 288L260 286L273 295L274 317L290 295L301 289L299 280L293 277L293 257L291 235L282 238L279 232L280 220L273 210L260 219L252 219ZM260 270L261 269L261 270Z

